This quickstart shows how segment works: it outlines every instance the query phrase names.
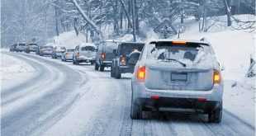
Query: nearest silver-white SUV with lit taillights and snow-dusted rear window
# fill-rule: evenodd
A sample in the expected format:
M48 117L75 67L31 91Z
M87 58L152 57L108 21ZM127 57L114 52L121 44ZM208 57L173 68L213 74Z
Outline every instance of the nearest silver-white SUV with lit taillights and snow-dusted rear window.
M151 40L131 79L131 119L144 110L197 112L209 122L222 118L223 79L209 43L193 40Z

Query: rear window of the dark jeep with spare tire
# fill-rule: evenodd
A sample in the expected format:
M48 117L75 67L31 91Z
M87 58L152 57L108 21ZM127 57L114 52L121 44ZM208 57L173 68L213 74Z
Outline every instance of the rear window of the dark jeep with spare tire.
M134 50L141 51L143 49L143 44L121 44L118 48L118 53L121 54L130 54Z

